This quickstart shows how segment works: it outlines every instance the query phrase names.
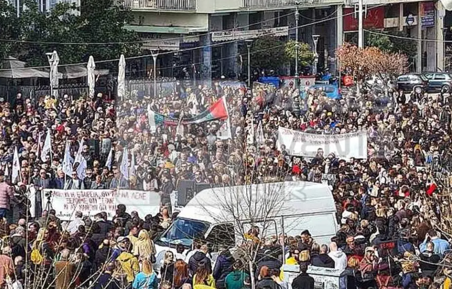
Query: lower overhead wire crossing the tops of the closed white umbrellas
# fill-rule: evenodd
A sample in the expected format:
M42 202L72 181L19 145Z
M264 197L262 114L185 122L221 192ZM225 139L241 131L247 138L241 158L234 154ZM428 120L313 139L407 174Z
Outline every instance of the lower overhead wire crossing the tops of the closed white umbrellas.
M384 5L385 5L385 4L379 4L379 5L376 5L376 6L372 7L372 8L369 8L369 10L370 10L370 9L377 8L377 7L380 7L380 6L384 6ZM339 17L344 17L344 16L348 16L348 15L353 15L353 14L355 14L355 12L350 12L350 13L343 14L343 15L341 15L341 16L336 16L336 17L333 17L333 18L326 18L326 19L322 19L322 20L319 20L319 21L315 21L315 22L311 22L311 23L299 25L299 26L296 26L296 27L289 28L288 31L290 31L290 30L296 30L296 29L298 29L298 28L308 27L308 26L315 25L315 24L319 24L319 23L323 23L323 22L328 22L328 21L331 21L331 20L338 19ZM264 34L260 35L259 37L270 36L270 35L273 35L273 34L274 34L274 32L264 33ZM202 48L209 48L209 47L221 46L221 45L224 45L224 44L227 44L227 43L233 43L233 42L238 42L238 41L243 41L243 40L245 40L245 39L253 39L253 38L255 38L255 37L249 36L249 37L246 37L246 38L240 38L240 39L233 39L233 40L228 40L228 41L222 41L222 42L219 42L219 43L213 43L213 44L202 45L202 46L196 46L196 47L191 47L191 48L185 48L185 49L178 49L178 50L173 50L173 51L162 52L162 53L159 53L158 55L161 56L161 55L173 54L173 53L175 53L175 52L186 52L186 51L191 51L191 50L196 50L196 49L202 49ZM130 60L130 59L140 59L140 58L151 57L151 56L152 56L151 54L147 54L147 55L139 55L139 56L126 57L125 59L127 59L127 60ZM106 62L115 62L115 61L119 61L119 58L117 58L117 59L108 59L108 60L100 60L100 61L96 61L96 63L106 63ZM59 65L58 67L77 66L77 65L84 65L84 64L87 64L87 62L72 63L72 64L63 64L63 65ZM14 69L14 70L44 69L44 68L49 68L49 67L50 67L50 66L47 65L47 66L38 66L38 67L16 68L16 69ZM10 70L11 70L11 69L0 69L0 71L10 71Z

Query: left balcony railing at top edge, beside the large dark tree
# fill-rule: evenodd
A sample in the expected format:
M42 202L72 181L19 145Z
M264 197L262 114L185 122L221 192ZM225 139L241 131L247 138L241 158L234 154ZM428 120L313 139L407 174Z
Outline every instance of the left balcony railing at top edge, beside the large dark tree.
M133 10L196 10L196 0L114 0L114 4Z

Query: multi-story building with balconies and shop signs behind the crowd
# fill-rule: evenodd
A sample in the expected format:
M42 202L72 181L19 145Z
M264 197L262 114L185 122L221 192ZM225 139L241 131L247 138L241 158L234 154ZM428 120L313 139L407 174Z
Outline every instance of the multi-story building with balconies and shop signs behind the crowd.
M159 48L163 53L157 66L164 76L180 69L181 63L206 78L233 74L244 38L274 34L289 39L296 33L295 0L116 0L116 4L135 15L134 25L127 28L152 40L144 49ZM319 69L335 70L335 49L357 38L356 4L355 0L299 1L300 41L312 45L311 36L320 35ZM365 29L405 31L416 39L444 38L445 10L439 1L364 0L364 5ZM413 41L418 47L413 70L442 69L442 42ZM192 47L202 48L189 50ZM151 67L151 58L136 66L137 71Z

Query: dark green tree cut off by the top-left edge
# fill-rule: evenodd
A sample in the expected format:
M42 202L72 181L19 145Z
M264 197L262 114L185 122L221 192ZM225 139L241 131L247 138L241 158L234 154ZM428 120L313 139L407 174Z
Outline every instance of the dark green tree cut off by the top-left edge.
M17 40L20 35L17 22L16 9L7 0L0 0L0 38ZM9 56L16 46L14 42L0 41L0 59Z

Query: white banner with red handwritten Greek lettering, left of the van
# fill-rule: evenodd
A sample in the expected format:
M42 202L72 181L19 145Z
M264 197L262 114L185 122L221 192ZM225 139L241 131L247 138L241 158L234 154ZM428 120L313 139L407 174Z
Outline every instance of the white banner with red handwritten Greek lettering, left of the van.
M51 207L61 220L74 219L77 211L90 217L106 212L111 219L119 204L125 205L127 212L136 211L142 218L148 214L154 216L160 210L160 195L150 191L44 189L41 193L43 202L47 200L45 194L49 193Z

